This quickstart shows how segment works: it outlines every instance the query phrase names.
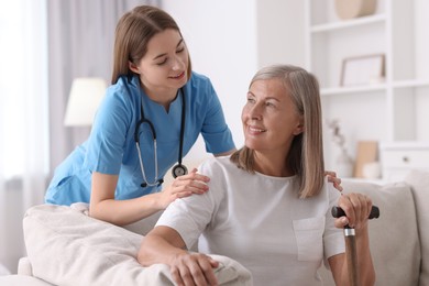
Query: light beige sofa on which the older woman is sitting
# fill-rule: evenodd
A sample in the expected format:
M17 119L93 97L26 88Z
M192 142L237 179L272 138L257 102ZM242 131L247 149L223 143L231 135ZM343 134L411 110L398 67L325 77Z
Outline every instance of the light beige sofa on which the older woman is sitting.
M369 195L381 216L370 221L376 285L429 285L429 173L413 170L404 182L377 185L344 180L344 191ZM166 265L141 267L135 260L142 235L157 216L119 228L87 216L87 206L41 205L28 210L24 238L28 256L18 274L0 276L0 285L173 285ZM221 262L220 285L252 285L238 262ZM324 266L323 285L334 285Z

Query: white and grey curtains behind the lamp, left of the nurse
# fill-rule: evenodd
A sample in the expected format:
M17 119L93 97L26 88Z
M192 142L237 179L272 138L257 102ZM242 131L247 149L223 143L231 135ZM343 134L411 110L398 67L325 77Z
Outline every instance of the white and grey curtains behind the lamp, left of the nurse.
M54 168L89 134L65 128L75 77L110 82L114 28L156 0L13 0L0 3L0 264L25 255L22 218L43 202Z

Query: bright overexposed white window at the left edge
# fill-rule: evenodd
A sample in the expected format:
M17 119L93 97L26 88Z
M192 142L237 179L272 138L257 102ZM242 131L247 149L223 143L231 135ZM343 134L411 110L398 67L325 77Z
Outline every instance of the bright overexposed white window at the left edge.
M8 179L47 173L46 3L0 6L0 177Z

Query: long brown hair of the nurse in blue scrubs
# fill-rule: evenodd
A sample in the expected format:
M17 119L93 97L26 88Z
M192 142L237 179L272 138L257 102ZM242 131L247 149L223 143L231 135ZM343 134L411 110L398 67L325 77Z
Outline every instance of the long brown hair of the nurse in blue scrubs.
M129 62L139 65L140 59L147 53L148 41L167 29L176 30L182 36L176 21L156 7L139 6L123 14L114 34L112 84L121 76L133 75ZM190 58L188 63L187 74L190 78Z

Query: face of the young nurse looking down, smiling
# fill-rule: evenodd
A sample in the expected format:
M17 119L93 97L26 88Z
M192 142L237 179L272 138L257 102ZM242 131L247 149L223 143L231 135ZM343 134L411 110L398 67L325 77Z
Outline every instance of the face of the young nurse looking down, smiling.
M147 43L147 52L139 65L130 69L140 75L147 95L174 95L187 80L188 50L178 31L167 29L155 34Z

